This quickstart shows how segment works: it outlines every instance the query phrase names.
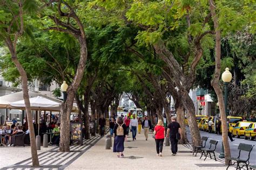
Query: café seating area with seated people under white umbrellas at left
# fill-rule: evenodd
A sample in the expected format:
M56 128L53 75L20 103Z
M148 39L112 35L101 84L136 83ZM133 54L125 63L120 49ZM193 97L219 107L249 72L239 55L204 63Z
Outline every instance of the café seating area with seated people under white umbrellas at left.
M48 134L49 145L57 146L60 136L60 105L62 100L45 96L33 91L29 91L30 105L32 110L32 121L36 136L41 136L41 144L43 135ZM25 112L25 103L22 91L0 97L0 108L6 109L6 118L0 123L0 146L26 146L30 145L30 137L28 130L28 120ZM9 110L9 111L8 111ZM11 117L12 110L21 110L21 117ZM77 112L76 104L73 105L73 112ZM54 112L55 114L53 114ZM13 117L13 116L12 116Z

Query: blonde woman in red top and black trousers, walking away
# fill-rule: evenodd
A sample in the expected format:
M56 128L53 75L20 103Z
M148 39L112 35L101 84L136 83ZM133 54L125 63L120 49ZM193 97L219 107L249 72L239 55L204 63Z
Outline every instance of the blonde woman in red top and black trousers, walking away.
M157 125L154 127L155 140L157 145L157 155L162 156L165 128L163 121L158 120Z

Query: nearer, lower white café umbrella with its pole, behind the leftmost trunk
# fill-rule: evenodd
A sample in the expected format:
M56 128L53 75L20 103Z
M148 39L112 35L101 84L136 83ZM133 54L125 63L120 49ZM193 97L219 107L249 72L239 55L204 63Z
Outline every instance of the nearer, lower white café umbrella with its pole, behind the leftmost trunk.
M47 110L47 111L60 111L60 103L49 100L42 96L29 98L31 110ZM18 109L25 109L24 100L10 103L11 107ZM38 115L39 119L39 115ZM39 121L38 121L38 135L39 135Z

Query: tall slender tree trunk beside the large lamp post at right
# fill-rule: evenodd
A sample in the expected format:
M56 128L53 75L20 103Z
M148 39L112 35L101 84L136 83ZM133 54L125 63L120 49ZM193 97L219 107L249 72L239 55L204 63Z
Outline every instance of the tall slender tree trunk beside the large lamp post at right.
M223 146L224 146L224 153L225 153L225 163L228 165L227 158L230 157L230 145L228 143L227 138L227 119L225 114L225 106L224 106L224 100L223 100L223 91L221 90L219 86L219 78L220 78L220 69L221 69L221 37L220 37L220 29L219 29L219 22L218 18L216 16L215 7L213 5L213 1L209 0L210 4L210 10L212 13L212 19L214 23L214 29L215 29L215 73L214 77L212 79L212 86L214 88L214 91L218 97L218 103L219 103L219 109L220 109L220 118L221 118L221 126L222 126L222 140L223 140Z

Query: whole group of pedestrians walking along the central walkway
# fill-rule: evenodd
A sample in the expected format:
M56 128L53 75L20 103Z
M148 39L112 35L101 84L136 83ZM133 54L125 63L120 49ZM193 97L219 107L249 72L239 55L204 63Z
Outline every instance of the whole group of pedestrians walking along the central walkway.
M132 117L132 119L130 119L130 117ZM105 119L103 116L100 119L100 131L102 135L104 135L102 128L105 126ZM166 132L166 128L161 119L159 119L157 125L153 127L148 116L145 116L142 121L141 118L136 118L136 115L133 114L132 116L118 117L117 121L114 117L110 119L110 134L114 137L113 152L118 153L118 158L124 157L124 142L127 136L129 136L129 131L132 132L132 140L134 141L136 140L137 129L139 134L141 129L144 130L146 140L149 138L149 131L153 131L153 138L156 142L156 152L159 157L163 156L162 152L165 136L170 138L172 155L177 154L181 128L179 123L176 122L176 117L173 116L171 118L171 123L167 126Z

